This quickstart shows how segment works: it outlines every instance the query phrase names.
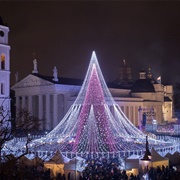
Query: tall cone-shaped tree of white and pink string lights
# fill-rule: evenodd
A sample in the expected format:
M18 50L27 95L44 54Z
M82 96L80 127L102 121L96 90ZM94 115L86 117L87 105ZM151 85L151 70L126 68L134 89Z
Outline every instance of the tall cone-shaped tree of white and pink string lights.
M30 146L48 151L107 153L144 150L145 143L146 135L114 101L93 52L81 90L67 114L50 133ZM157 141L149 138L149 144L155 147Z

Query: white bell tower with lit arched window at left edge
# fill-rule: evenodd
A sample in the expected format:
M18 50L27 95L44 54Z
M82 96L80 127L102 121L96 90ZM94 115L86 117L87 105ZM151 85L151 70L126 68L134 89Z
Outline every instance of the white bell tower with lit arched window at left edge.
M0 17L0 114L10 114L10 46L9 27Z

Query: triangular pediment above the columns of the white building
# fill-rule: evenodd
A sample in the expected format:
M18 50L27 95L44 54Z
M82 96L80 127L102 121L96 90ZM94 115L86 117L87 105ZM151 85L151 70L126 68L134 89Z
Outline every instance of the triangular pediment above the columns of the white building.
M12 86L11 89L16 88L24 88L24 87L35 87L35 86L47 86L47 85L53 85L54 83L49 82L47 80L44 80L40 77L37 77L33 74L30 74L26 76L24 79L16 83L14 86Z

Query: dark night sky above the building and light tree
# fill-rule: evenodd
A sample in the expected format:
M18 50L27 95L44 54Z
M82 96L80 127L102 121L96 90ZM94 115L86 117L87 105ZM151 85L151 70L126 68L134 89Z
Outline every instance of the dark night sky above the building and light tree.
M36 51L40 74L84 79L91 53L106 81L123 59L138 78L150 66L162 82L180 82L180 1L0 2L10 28L11 85L32 72Z

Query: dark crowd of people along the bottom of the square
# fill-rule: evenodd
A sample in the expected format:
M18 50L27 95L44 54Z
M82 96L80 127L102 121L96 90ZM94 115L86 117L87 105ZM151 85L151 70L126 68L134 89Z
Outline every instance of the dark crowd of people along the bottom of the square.
M122 168L122 161L118 158L96 158L87 159L86 167L76 180L179 180L180 172L172 166L162 166L157 168L148 168L144 173L137 175L129 174L128 171ZM4 166L7 168L6 166ZM16 164L12 168L12 172L5 173L1 165L1 180L6 179L34 179L34 180L74 180L71 173L68 177L65 174L59 173L56 177L52 178L51 170L45 169L42 164L36 166L18 166ZM9 169L8 169L9 170Z

